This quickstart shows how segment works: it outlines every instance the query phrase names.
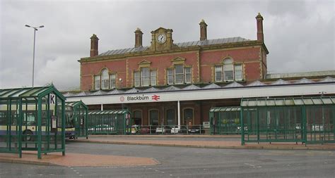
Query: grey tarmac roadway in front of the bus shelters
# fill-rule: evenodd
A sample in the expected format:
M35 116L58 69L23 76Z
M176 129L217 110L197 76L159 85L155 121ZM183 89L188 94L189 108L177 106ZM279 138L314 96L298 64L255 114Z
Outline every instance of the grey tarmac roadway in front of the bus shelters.
M335 174L335 151L69 142L66 153L155 158L160 164L63 167L0 163L0 177L334 177Z

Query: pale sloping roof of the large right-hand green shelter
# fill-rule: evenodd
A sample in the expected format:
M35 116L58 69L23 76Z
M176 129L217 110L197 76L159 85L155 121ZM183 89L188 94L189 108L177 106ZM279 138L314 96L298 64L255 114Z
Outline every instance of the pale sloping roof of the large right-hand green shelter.
M310 98L247 98L242 99L242 107L257 106L302 106L302 105L334 105L335 97Z

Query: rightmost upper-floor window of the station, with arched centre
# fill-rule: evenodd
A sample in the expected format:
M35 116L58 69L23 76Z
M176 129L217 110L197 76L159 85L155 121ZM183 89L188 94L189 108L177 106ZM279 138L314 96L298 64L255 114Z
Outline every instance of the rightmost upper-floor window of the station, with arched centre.
M243 80L242 64L234 64L231 58L226 58L223 65L215 66L215 81L240 81Z

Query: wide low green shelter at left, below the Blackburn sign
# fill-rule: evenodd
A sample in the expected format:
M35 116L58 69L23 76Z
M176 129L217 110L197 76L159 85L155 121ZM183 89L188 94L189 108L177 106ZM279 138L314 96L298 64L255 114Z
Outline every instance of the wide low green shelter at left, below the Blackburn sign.
M88 134L131 134L131 113L129 110L89 111Z

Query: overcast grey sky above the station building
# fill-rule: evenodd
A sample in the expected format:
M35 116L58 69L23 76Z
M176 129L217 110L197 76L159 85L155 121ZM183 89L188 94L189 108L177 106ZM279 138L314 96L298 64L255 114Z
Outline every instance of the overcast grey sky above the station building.
M97 34L99 53L134 46L136 27L149 46L151 31L173 30L174 42L257 39L255 16L264 18L269 73L335 70L334 1L18 1L0 0L0 89L31 87L32 28L36 33L35 87L53 82L78 89L78 60L90 55Z

